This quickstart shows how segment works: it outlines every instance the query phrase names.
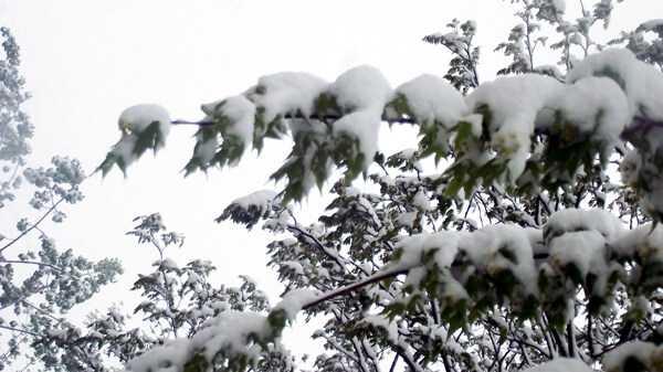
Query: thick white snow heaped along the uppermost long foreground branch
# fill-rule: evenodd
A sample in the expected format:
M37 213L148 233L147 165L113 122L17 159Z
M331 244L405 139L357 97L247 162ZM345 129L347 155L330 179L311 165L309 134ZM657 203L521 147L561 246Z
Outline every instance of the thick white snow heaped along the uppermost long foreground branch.
M561 0L550 1L548 6L558 13L566 8ZM655 24L652 22L652 26ZM663 75L636 61L629 51L609 49L579 63L569 73L567 84L540 74L524 74L484 83L467 97L433 75L419 76L392 89L380 71L366 65L345 72L332 84L306 73L266 75L244 95L222 102L222 115L233 121L224 136L233 135L250 144L256 130L253 124L256 108L264 109L267 123L287 113L308 117L320 94L333 96L341 110L341 117L332 125L333 137L328 137L329 128L325 123L292 119L287 125L293 138L301 131L312 132L326 141L347 135L350 140L357 140L352 149L358 153L350 156L362 153L365 167L378 151L385 105L399 94L407 97L407 104L421 126L440 125L443 130L438 134L436 141L442 148L450 139L448 130L460 121L470 123L474 135L480 136L483 118L481 114L472 113L487 106L494 152L467 149L464 153L476 164L485 163L493 156L506 160L507 173L498 181L512 183L525 169L535 130L551 129L557 118L600 144L604 156L613 147L621 148L620 135L634 115L663 118L663 104L659 98L663 96ZM206 107L209 111L211 105ZM663 144L663 132L659 137L654 148L659 142ZM218 146L217 139L199 144L197 155L204 163ZM130 157L126 159L130 160ZM305 185L315 183L309 173L305 171L302 176ZM651 210L656 211L659 206L653 204Z

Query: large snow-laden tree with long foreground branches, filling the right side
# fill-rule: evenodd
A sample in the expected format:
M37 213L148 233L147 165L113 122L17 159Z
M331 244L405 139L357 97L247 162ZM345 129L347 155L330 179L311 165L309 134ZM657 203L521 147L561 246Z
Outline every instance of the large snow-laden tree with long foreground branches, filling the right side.
M200 121L173 121L199 127L188 173L293 139L271 176L283 190L219 217L277 234L269 254L286 291L269 312L222 311L127 370L256 368L304 311L327 320L314 334L332 352L322 371L660 371L662 22L604 49L590 31L608 26L611 1L576 21L561 1L515 2L523 24L497 46L513 59L499 74L513 76L481 83L476 24L454 20L424 38L453 53L451 85L424 75L392 89L368 66L332 84L281 73L203 105ZM535 64L546 26L561 70ZM412 125L418 148L378 152L382 123ZM99 170L158 150L170 124L160 107L127 109ZM427 173L429 160L442 172ZM336 169L327 212L299 223L290 203ZM354 188L359 174L375 187Z

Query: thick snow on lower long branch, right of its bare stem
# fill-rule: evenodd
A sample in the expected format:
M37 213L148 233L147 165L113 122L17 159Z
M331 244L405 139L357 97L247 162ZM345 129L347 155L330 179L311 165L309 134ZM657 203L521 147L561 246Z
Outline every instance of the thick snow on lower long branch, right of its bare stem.
M406 216L402 220L407 222ZM470 276L496 277L508 272L516 278L515 289L519 294L516 296L538 297L539 269L557 275L572 264L581 280L592 274L593 295L609 297L608 280L615 269L606 261L610 249L621 252L618 256L630 257L633 249L638 249L642 257L663 262L663 227L651 234L644 234L645 230L638 234L627 234L627 231L619 219L604 210L562 210L548 219L543 233L536 228L502 224L474 232L442 231L406 237L397 244L400 256L397 255L398 258L383 269L410 269L406 284L414 288L424 279L427 270L453 273L453 277L443 275L440 280L443 296L455 299L467 296L463 283ZM543 253L549 254L548 261L535 263L535 254ZM463 275L457 269L449 272L454 259L460 257L464 257Z

